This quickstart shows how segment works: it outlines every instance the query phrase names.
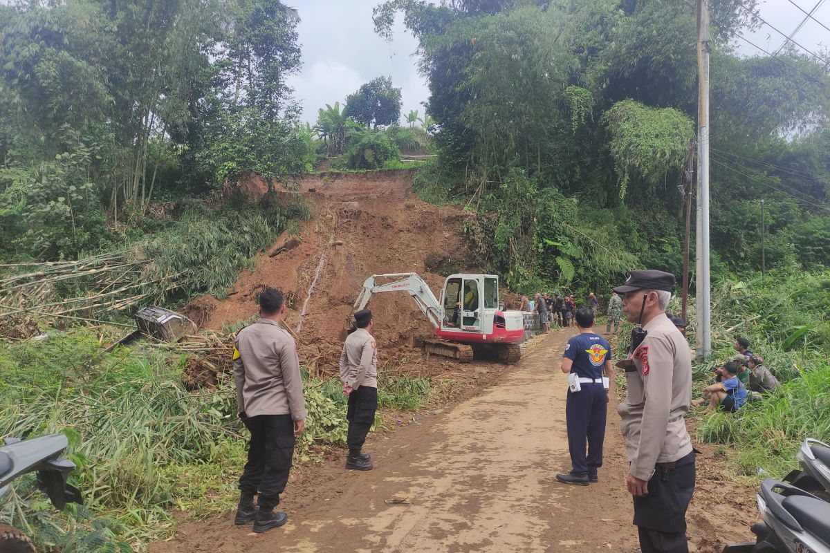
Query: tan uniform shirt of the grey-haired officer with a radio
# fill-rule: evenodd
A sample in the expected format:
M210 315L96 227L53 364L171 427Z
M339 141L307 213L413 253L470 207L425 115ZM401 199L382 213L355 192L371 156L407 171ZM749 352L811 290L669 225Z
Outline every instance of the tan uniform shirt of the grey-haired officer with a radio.
M691 357L686 338L661 313L634 352L637 371L627 372L627 396L617 407L634 478L652 478L656 463L691 453L683 415L691 403Z

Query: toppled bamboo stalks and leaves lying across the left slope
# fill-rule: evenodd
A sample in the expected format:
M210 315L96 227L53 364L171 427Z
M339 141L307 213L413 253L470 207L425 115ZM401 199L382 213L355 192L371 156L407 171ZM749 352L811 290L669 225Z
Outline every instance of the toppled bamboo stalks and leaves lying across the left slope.
M118 318L147 303L186 302L201 293L224 298L256 254L296 219L310 216L304 201L282 204L275 194L254 204L235 192L221 206L183 201L178 208L175 220L145 216L144 229L134 229L128 240L118 243L110 235L105 253L14 269L0 280L3 313Z

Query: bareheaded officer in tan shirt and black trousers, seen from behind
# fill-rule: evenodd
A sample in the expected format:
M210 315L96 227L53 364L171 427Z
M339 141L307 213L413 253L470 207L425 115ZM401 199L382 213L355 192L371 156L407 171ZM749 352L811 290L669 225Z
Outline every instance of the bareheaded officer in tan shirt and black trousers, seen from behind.
M303 382L294 338L279 326L286 313L282 293L265 289L260 318L237 334L233 348L233 380L239 419L251 432L248 462L239 479L241 497L236 524L254 521L261 533L288 520L274 512L285 491L295 436L305 429ZM253 498L259 493L259 508Z

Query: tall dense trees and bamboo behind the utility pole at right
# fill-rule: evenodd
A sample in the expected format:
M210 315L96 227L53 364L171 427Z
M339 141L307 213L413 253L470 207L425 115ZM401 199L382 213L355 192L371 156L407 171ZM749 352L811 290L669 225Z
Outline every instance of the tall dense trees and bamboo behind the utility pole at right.
M753 26L755 3L710 2L711 247L721 276L760 269L761 200L767 268L830 265L830 78L796 50L783 61L739 54L734 36ZM469 236L491 270L512 289L579 296L635 266L681 273L676 185L696 119L693 9L388 0L374 10L381 35L398 13L419 43L440 156L417 192L478 211Z

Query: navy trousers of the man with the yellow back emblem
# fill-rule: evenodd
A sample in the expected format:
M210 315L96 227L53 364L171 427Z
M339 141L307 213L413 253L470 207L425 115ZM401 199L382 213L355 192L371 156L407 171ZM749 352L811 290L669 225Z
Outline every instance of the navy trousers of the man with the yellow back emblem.
M568 390L565 420L568 427L568 449L574 473L596 474L603 466L603 441L608 404L602 384L582 384L582 390ZM588 444L588 456L585 455Z

